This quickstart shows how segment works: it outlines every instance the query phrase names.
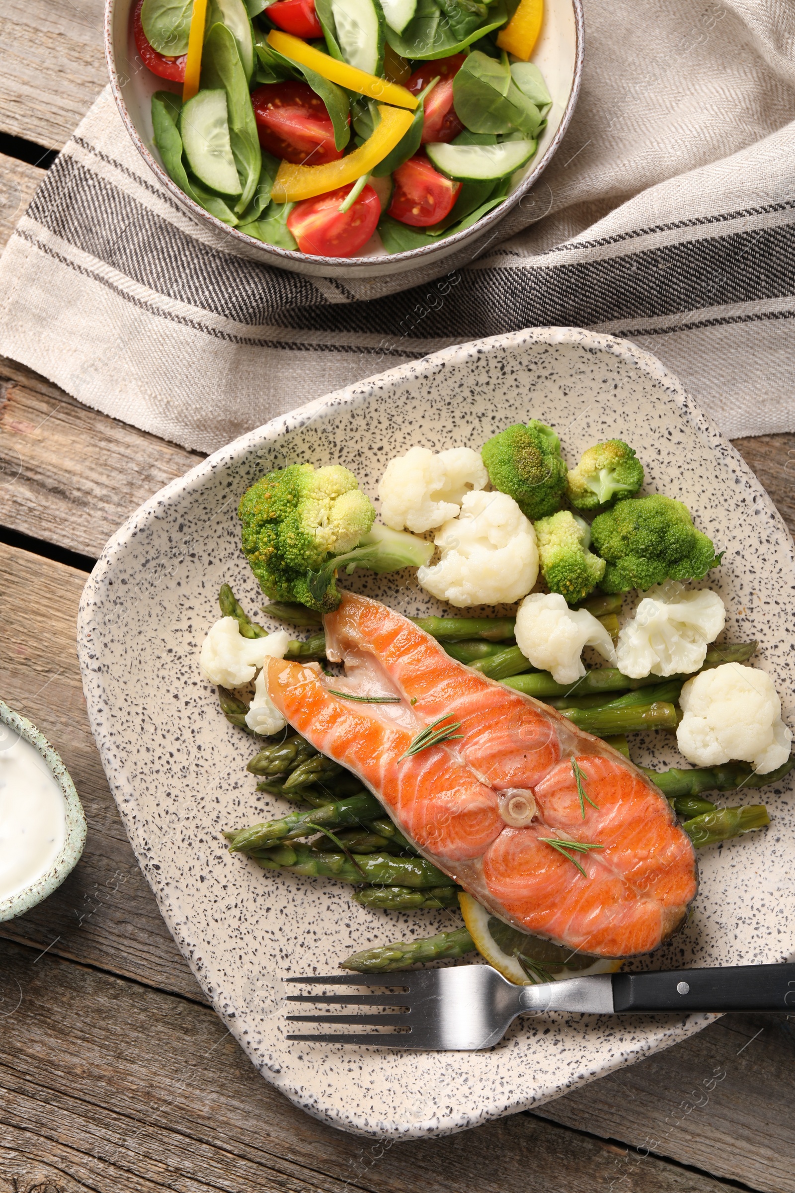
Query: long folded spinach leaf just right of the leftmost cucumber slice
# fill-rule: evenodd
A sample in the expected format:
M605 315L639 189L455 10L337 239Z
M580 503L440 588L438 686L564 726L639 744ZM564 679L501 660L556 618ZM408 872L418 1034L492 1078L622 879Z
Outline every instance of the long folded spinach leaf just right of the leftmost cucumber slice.
M256 120L248 92L237 44L225 25L211 27L201 56L201 87L223 88L226 92L229 141L237 166L243 193L235 204L240 214L251 202L260 181L262 154L256 132Z

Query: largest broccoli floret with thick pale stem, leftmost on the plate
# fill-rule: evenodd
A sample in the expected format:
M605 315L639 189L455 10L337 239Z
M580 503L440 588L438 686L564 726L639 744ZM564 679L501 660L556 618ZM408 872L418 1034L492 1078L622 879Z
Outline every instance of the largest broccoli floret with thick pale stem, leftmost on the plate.
M433 543L385 526L353 472L291 464L247 489L238 507L243 554L262 592L328 613L340 604L335 571L397 571L428 563Z

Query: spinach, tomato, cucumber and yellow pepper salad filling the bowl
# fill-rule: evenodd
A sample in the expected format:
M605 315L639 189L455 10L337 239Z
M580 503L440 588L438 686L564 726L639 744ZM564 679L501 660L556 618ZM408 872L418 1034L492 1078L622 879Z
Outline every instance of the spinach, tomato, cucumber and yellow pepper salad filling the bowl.
M263 243L400 253L501 204L552 97L544 0L136 0L155 144L176 185ZM181 85L181 86L179 86ZM378 248L378 240L367 251Z

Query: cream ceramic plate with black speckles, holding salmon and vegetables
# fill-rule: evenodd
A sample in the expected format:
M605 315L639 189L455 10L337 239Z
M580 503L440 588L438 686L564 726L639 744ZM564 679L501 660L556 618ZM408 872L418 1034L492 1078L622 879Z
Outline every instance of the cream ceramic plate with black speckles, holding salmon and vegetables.
M262 472L342 463L375 495L386 460L412 444L478 447L528 418L552 424L573 460L629 440L646 492L681 497L725 549L710 577L726 637L758 638L791 722L793 543L770 500L681 384L653 357L607 335L541 328L448 348L313 402L216 452L111 539L86 586L80 660L92 728L126 830L162 914L218 1014L262 1075L328 1123L417 1137L523 1109L698 1031L709 1016L540 1015L487 1052L395 1052L288 1043L284 978L334 971L368 945L455 926L456 913L396 914L353 903L341 884L263 873L230 855L222 830L284 812L244 765L253 744L201 679L198 651L231 582L261 594L238 549L237 501ZM440 611L415 583L360 587L404 613ZM672 737L635 749L675 764ZM749 793L747 802L758 799ZM694 914L651 968L778 962L795 950L793 785L765 790L772 826L700 857Z

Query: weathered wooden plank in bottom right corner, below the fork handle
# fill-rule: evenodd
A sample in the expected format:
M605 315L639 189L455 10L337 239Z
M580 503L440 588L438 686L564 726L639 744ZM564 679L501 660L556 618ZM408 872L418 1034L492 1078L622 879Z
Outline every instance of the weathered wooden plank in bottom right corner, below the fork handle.
M631 1174L648 1149L765 1193L793 1193L794 1027L791 1016L727 1015L538 1113L640 1149L616 1160L616 1177ZM611 1187L627 1186L616 1180Z

